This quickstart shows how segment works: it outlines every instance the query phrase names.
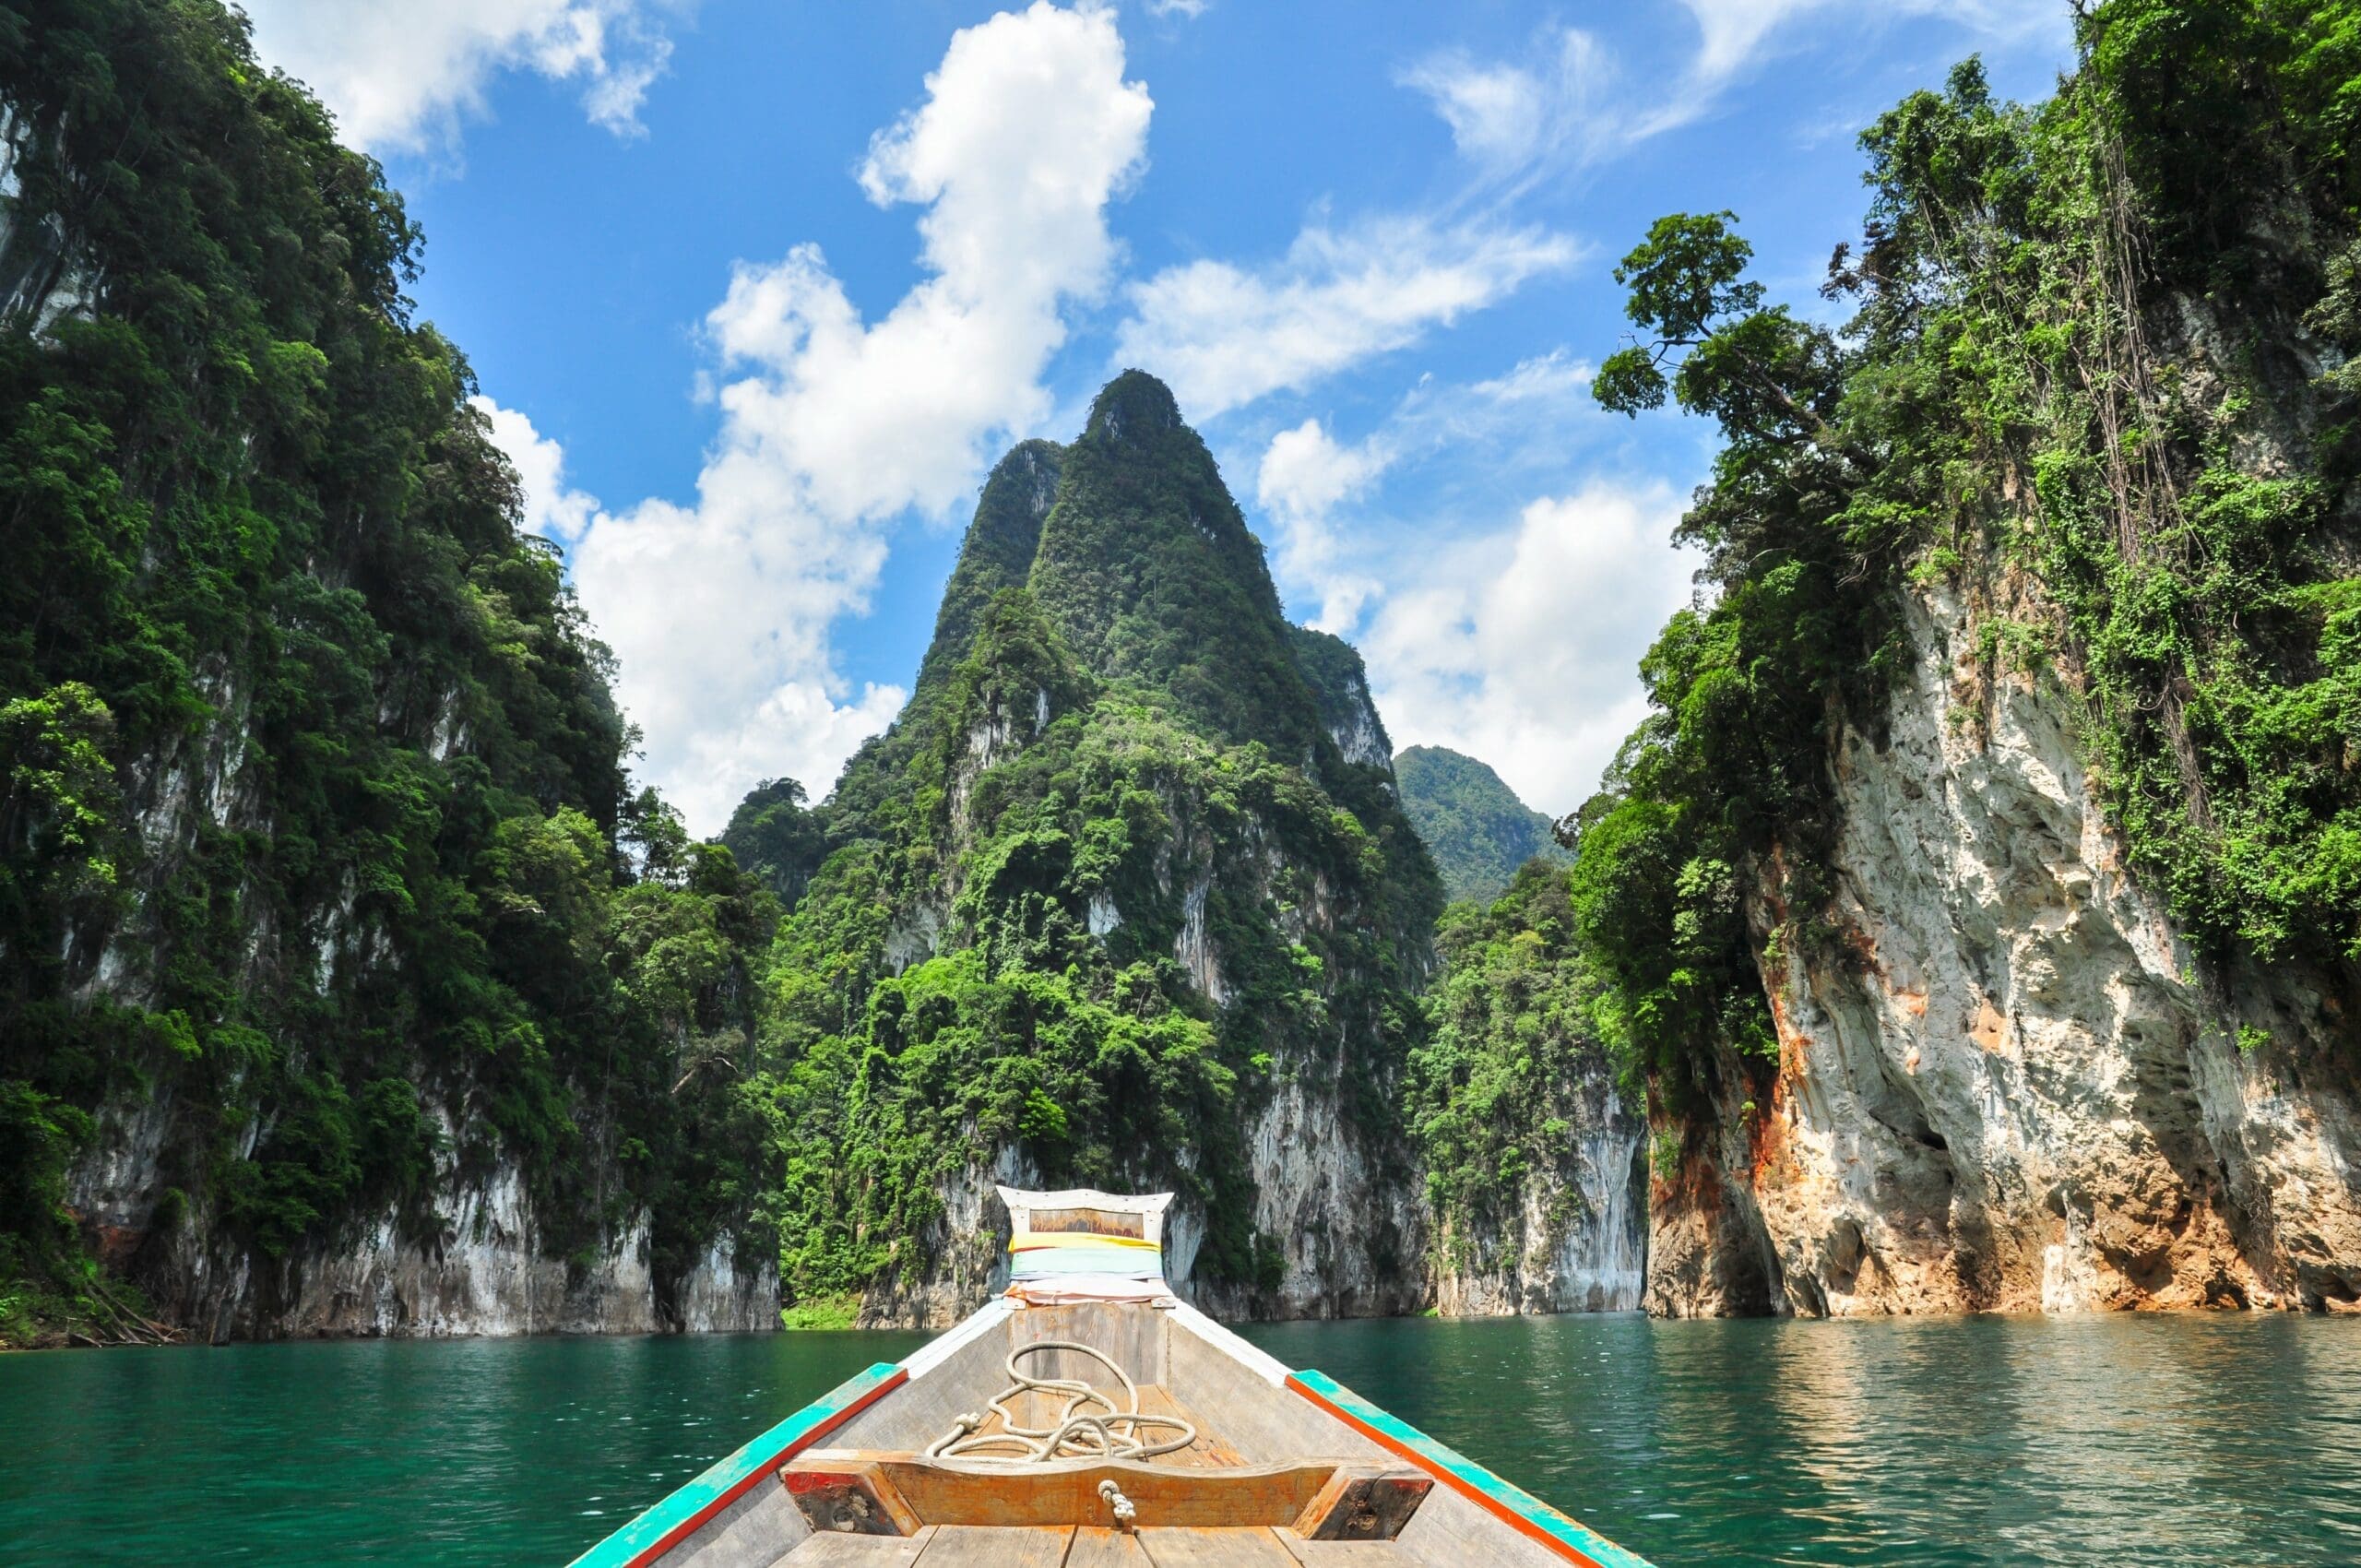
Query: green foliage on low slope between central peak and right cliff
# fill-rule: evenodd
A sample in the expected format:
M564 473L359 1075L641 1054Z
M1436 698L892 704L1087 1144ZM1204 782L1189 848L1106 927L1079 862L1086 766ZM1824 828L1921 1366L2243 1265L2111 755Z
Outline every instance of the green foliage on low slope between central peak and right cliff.
M1601 985L1575 935L1563 864L1528 860L1490 907L1452 904L1440 947L1431 1034L1410 1053L1410 1122L1435 1249L1466 1263L1471 1237L1523 1228L1530 1176L1575 1164L1596 1122L1584 1089L1617 1072L1598 1039ZM1613 1093L1639 1103L1641 1089L1624 1074ZM1580 1219L1575 1183L1558 1181L1554 1202L1546 1223Z

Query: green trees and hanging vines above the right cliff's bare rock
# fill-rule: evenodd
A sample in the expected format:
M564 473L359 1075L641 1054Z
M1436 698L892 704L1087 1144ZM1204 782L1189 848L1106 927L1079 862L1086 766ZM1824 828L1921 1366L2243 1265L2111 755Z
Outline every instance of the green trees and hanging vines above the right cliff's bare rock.
M1726 442L1681 524L1712 595L1565 824L1603 1032L1676 1112L1775 1051L1759 963L1839 940L1830 741L1875 734L1908 586L1979 616L1986 692L2080 704L2134 867L2212 961L2347 989L2361 961L2361 7L2108 0L2078 28L2047 104L1967 61L1863 135L1842 331L1766 305L1726 213L1617 269L1646 342L1601 401Z

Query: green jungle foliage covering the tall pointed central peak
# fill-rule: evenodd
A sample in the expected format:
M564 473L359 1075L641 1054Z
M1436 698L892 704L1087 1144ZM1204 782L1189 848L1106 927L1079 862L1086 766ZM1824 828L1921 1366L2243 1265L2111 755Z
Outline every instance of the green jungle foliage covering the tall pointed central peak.
M1386 770L1348 765L1317 704L1159 383L1126 373L1072 446L1003 458L918 690L819 808L831 852L772 956L746 1103L786 1171L798 1313L935 1270L961 1244L944 1188L1001 1157L1180 1190L1209 1214L1197 1278L1270 1287L1244 1126L1287 1074L1341 1084L1407 1157L1398 1074L1443 900ZM1185 930L1228 1006L1176 961Z

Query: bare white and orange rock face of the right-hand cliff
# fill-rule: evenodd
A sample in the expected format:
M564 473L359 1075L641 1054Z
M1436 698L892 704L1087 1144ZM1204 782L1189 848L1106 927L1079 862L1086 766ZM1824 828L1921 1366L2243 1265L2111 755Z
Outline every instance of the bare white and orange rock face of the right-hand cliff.
M1945 593L1908 623L1889 741L1834 756L1851 952L1771 961L1773 1093L1657 1183L1650 1311L2354 1304L2337 999L2200 975L2104 824L2075 697L1983 685Z

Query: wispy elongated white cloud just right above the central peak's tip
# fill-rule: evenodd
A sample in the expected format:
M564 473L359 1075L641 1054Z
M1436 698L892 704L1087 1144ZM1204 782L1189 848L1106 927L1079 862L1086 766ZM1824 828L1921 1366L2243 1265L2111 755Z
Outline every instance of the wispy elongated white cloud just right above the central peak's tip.
M1152 368L1185 418L1209 420L1410 347L1580 255L1535 227L1428 215L1310 224L1265 267L1197 260L1133 283L1117 359Z

